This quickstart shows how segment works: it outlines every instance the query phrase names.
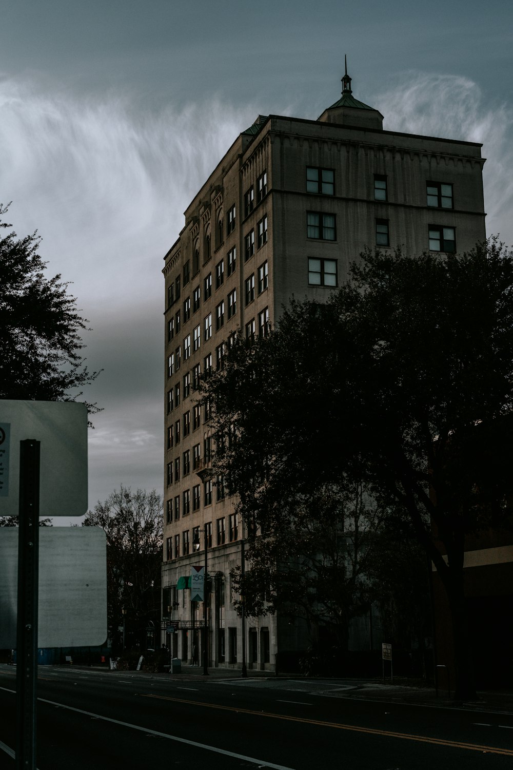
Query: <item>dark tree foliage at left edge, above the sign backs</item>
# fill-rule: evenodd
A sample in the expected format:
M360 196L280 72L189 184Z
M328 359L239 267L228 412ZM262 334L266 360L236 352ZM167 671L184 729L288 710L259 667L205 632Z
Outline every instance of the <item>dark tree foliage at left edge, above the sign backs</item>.
M87 321L68 283L60 275L45 277L37 233L18 239L9 230L7 208L0 204L0 228L8 231L0 238L0 398L76 398L74 391L98 375L82 359Z

